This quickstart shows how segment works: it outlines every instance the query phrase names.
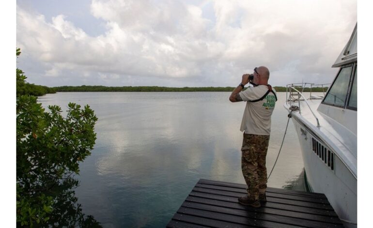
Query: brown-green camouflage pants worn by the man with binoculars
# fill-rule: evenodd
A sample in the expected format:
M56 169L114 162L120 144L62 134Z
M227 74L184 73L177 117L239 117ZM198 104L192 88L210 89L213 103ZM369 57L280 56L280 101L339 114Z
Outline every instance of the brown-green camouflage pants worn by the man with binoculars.
M241 168L250 198L258 199L267 189L267 169L265 157L267 155L269 135L255 135L244 133L242 142Z

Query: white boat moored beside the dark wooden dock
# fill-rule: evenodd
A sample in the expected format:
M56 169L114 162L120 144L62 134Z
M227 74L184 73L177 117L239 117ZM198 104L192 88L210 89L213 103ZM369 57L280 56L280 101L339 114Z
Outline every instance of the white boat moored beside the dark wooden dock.
M356 228L357 24L332 67L340 69L322 99L306 98L305 83L289 84L284 107L298 135L309 190L325 194L343 225Z

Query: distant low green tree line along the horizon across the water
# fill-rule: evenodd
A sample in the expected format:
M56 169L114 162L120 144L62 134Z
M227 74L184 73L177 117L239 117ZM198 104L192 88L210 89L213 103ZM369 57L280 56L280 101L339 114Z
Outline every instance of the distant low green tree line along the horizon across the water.
M232 92L235 87L163 87L163 86L58 86L52 87L57 92ZM286 92L286 87L274 86L277 92ZM311 88L304 88L310 92ZM327 87L324 87L326 92ZM323 92L322 87L312 87L312 92Z

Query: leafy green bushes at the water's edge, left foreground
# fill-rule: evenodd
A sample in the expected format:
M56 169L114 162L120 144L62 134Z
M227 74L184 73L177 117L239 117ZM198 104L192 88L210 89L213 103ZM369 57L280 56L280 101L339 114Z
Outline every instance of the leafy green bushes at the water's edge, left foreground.
M16 58L21 54L16 49ZM89 105L48 111L36 96L53 88L26 81L16 68L16 227L102 227L82 212L75 189L79 163L91 155L98 120Z

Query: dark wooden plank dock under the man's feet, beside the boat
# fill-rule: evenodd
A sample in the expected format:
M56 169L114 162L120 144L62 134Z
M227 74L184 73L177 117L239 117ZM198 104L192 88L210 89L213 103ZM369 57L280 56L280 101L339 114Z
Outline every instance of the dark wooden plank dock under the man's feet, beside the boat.
M324 194L268 188L261 208L239 204L245 194L245 184L200 179L167 227L343 227Z

